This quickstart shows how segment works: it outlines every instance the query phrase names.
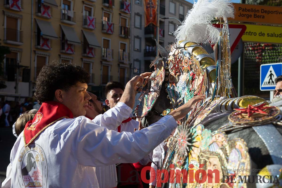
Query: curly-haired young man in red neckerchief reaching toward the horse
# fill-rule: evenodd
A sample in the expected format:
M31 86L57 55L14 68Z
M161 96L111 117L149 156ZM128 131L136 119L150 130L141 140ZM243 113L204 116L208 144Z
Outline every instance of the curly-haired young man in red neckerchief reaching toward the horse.
M149 76L135 76L126 85L116 116L129 116L136 89ZM17 138L2 187L99 187L97 166L133 163L151 152L177 127L195 97L150 127L116 132L85 117L90 75L75 64L45 65L36 79L35 97L41 105Z

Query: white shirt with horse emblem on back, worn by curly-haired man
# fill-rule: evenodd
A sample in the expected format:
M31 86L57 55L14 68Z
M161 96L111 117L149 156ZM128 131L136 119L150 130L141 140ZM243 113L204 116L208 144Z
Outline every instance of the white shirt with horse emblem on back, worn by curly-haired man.
M2 187L99 187L93 167L135 163L176 127L169 115L135 133L108 130L84 116L64 118L47 127L28 147L24 147L22 132L12 148Z

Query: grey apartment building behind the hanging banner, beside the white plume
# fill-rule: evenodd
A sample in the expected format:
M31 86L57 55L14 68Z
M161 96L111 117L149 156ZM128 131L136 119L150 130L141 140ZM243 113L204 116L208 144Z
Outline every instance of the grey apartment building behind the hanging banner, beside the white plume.
M155 25L145 26L144 0L133 0L131 11L131 74L136 76L142 72L151 71L149 65L156 57L156 30ZM168 47L175 42L173 32L177 25L181 25L177 19L183 21L188 10L193 4L185 0L158 0L159 2L159 43ZM163 19L175 17L177 19Z

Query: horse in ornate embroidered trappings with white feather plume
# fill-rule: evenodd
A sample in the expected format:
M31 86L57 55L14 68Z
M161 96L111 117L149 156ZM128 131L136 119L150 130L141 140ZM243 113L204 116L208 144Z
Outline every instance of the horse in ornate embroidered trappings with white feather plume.
M206 96L177 121L179 127L166 140L160 169L170 179L165 183L166 174L158 176L162 187L282 186L282 98L270 102L236 96L227 22L233 11L225 0L198 0L175 32L177 42L168 50L157 44L161 57L150 65L155 72L136 109L142 125L158 121L193 96ZM211 25L214 17L222 18L221 31ZM214 56L203 44L213 46ZM189 173L177 181L177 170Z

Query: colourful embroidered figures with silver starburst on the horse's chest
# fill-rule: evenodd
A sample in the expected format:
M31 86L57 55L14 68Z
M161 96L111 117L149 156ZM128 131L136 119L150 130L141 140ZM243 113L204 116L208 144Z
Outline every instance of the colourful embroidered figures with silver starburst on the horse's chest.
M182 128L179 130L177 136L171 141L162 168L170 172L177 169L193 170L187 174L187 180L190 181L191 177L193 182L185 184L182 177L183 182L177 183L179 187L219 188L225 185L223 187L242 188L246 187L246 182L226 183L222 182L222 177L232 178L233 176L236 177L237 182L240 182L239 176L250 174L250 171L246 170L250 169L250 157L244 140L239 138L229 140L224 132L211 132L199 124L192 129ZM199 180L204 177L204 174L200 176L198 174L199 177L195 175L199 169L207 174L206 181L201 183ZM219 180L215 180L216 175L213 176L211 171L217 171L215 173L219 174ZM170 181L173 182L171 179ZM217 181L218 183L215 183ZM174 184L176 183L172 183L172 187L175 186Z

